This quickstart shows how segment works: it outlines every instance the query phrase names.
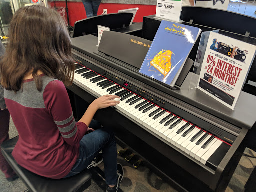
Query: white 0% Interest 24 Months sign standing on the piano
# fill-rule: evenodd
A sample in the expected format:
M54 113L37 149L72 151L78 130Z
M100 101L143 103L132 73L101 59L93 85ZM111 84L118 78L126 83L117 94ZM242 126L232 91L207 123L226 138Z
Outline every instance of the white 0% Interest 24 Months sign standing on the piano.
M197 88L234 110L256 46L210 32Z

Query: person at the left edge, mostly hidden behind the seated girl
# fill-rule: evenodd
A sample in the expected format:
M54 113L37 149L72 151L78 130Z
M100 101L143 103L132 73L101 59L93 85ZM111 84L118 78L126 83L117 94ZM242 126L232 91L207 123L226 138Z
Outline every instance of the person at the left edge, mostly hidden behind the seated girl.
M5 48L0 41L0 57L4 54ZM0 85L0 145L6 141L9 140L9 123L10 123L10 113L8 109L6 109L6 104L4 100L4 89ZM8 162L3 157L2 153L0 152L0 169L4 173L6 179L8 181L13 181L18 176L13 171L13 169L10 167Z

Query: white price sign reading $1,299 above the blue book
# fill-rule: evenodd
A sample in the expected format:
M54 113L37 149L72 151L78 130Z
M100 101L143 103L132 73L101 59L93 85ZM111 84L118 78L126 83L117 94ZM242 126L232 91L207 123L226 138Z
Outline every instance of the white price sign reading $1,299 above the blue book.
M179 22L182 0L157 0L156 17Z

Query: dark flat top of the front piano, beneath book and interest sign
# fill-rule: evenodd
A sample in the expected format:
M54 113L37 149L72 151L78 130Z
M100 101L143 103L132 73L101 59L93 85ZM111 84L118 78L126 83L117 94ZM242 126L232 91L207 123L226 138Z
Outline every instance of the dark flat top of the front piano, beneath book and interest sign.
M119 66L118 64L99 56L99 52L97 50L98 48L96 46L98 43L97 37L93 35L86 35L73 38L71 40L73 49L117 70L122 70L122 72L126 70L126 73L123 72L124 74L131 74L134 80L143 82L149 85L149 87L156 88L159 90L159 92L163 94L173 96L183 102L186 102L196 108L199 108L211 115L214 115L224 121L229 122L230 124L234 124L241 128L244 127L250 129L255 124L256 114L254 113L254 110L256 108L256 96L254 95L242 91L238 99L236 108L233 111L228 107L222 105L215 99L211 98L210 96L204 94L200 90L188 90L191 73L186 77L184 83L179 90L171 90L168 85L164 86L161 85L158 81L152 81L149 77L147 78L145 76L141 76L138 70L135 71L134 68L128 71L127 69L129 68L129 66L123 68L122 66ZM123 65L125 65L125 63L123 63ZM154 94L157 93L154 92Z

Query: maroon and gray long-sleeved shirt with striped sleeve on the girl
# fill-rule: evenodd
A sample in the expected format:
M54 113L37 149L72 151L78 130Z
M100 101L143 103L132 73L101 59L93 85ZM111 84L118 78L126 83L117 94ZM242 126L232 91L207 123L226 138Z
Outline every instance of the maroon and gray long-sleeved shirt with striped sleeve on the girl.
M43 89L33 79L17 93L5 90L5 101L19 139L12 152L17 163L48 178L65 177L79 156L86 124L75 122L63 82L40 75Z

